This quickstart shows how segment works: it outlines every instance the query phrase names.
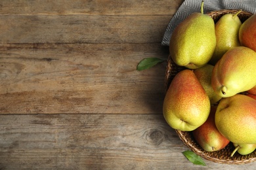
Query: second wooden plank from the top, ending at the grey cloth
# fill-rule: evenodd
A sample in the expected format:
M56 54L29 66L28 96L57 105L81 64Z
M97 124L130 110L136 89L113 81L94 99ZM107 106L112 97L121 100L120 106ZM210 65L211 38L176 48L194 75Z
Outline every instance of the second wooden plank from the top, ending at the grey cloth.
M155 43L161 42L171 17L2 15L0 42Z

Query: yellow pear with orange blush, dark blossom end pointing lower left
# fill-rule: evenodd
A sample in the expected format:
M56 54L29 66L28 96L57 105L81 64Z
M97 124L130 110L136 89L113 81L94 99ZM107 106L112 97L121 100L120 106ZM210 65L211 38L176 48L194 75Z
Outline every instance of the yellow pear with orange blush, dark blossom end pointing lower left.
M211 86L217 95L230 97L256 85L256 52L245 46L228 50L216 63Z

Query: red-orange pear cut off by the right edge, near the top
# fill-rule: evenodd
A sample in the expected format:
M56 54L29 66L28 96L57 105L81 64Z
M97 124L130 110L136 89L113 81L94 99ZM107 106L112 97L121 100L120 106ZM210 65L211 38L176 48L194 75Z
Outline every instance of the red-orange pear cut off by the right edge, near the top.
M250 16L239 29L239 40L242 46L247 46L256 52L256 14Z

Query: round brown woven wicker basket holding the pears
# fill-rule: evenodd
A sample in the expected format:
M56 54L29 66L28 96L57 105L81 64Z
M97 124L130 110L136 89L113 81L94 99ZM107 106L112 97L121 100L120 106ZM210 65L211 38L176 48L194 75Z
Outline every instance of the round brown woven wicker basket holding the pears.
M227 13L236 13L238 10L218 10L209 12L209 16L217 22L221 16ZM249 18L252 14L249 12L240 12L238 14L238 17L240 18L241 22L244 22L247 18ZM169 85L171 83L171 80L173 80L173 77L183 69L186 69L184 67L180 67L176 65L171 57L169 56L167 60L167 69L165 73L165 90L169 88ZM193 152L201 156L202 158L205 158L206 160L210 160L217 163L227 163L227 164L245 164L245 163L251 163L253 161L256 161L256 150L248 155L242 156L236 152L232 158L230 157L230 154L234 150L234 146L232 143L228 144L225 148L219 151L215 152L206 152L203 150L198 143L194 140L192 133L188 131L180 131L176 130L177 134L179 135L181 141L188 146Z

